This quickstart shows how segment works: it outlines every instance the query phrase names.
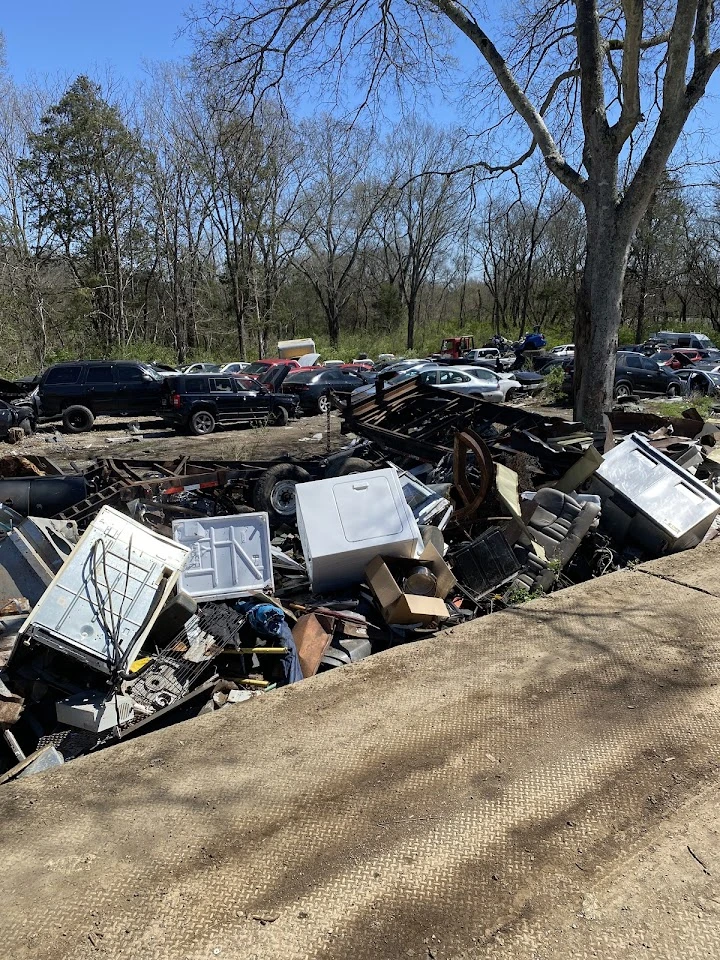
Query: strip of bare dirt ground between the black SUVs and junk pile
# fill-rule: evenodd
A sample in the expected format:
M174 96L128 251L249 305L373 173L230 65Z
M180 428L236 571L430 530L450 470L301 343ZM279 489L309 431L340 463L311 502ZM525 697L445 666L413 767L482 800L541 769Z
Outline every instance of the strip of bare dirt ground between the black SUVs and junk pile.
M328 442L331 450L347 443L340 434L340 423L333 412L329 420L326 416L299 417L286 427L232 426L206 437L193 437L175 433L156 417L98 417L88 433L64 433L60 424L41 425L34 436L1 452L50 457L59 463L95 457L173 459L186 454L198 460L270 460L283 453L302 458L326 453ZM140 434L131 434L131 426L137 426Z

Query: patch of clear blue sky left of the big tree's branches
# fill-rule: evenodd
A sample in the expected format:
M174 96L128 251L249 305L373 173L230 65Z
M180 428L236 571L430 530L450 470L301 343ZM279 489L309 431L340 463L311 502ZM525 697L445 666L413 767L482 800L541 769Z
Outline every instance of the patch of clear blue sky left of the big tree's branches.
M178 37L183 0L9 0L0 14L10 74L74 78L143 75L144 60L175 60L188 51Z

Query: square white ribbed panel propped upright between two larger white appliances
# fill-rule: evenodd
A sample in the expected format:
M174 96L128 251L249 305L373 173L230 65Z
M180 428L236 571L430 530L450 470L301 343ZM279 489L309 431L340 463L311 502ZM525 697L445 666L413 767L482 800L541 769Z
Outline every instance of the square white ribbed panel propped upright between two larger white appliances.
M195 600L229 600L275 587L266 513L174 520L173 540L190 549L180 589Z

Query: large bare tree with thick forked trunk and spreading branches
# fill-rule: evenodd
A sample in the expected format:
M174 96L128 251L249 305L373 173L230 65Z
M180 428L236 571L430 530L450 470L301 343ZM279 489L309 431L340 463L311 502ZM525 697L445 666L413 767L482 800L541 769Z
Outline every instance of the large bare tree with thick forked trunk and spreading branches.
M263 95L345 71L369 97L385 81L442 79L448 30L470 40L493 89L583 206L587 250L579 291L576 412L602 425L630 242L691 111L720 64L712 0L529 0L503 55L483 21L455 0L211 0L196 21L202 55L236 90ZM445 41L445 42L444 42ZM337 87L336 87L337 89ZM553 110L561 101L562 109ZM579 121L568 107L579 104ZM578 155L573 162L569 150ZM566 155L567 153L567 155ZM581 162L579 162L581 160Z

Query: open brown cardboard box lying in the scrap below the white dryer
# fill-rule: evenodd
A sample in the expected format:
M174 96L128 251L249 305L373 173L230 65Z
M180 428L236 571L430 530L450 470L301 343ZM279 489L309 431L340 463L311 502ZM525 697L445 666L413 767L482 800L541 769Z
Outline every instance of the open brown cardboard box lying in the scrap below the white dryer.
M403 593L384 557L375 557L365 568L368 586L380 604L386 623L429 623L448 617L445 597L457 582L452 570L432 544L428 544L417 560L388 558L393 570L402 579L406 572L422 564L437 580L434 597Z

